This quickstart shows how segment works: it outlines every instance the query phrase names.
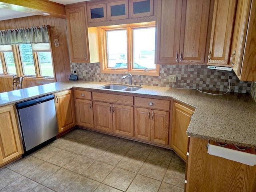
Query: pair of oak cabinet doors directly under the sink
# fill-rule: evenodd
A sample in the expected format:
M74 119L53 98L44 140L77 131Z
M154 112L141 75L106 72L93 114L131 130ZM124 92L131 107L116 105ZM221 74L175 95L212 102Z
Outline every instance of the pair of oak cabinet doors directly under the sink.
M94 102L94 127L99 130L134 136L133 107Z

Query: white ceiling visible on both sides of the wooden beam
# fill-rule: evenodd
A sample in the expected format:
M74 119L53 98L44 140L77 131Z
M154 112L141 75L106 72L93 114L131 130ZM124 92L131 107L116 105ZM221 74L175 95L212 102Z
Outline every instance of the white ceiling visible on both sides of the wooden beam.
M56 2L59 4L63 4L63 5L68 5L68 4L72 4L72 3L78 3L78 2L90 1L90 0L49 0L49 1ZM35 15L35 14L31 14L31 13L14 11L14 10L4 9L4 8L0 8L0 13L1 13L0 21Z

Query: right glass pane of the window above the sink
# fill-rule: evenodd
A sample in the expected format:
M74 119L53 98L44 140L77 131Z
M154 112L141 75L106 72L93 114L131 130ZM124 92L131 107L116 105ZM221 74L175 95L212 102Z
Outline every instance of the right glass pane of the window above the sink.
M134 29L134 69L156 69L155 28Z

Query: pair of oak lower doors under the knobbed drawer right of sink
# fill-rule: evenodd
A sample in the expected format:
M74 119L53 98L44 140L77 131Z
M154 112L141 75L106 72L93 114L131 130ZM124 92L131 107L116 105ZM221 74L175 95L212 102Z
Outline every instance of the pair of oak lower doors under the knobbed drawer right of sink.
M168 145L169 112L135 107L135 137Z

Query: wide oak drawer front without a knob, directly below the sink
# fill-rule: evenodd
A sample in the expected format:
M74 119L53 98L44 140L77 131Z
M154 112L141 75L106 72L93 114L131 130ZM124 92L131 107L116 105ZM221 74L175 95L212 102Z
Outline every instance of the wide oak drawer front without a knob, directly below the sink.
M133 96L92 92L92 99L108 103L133 105Z

